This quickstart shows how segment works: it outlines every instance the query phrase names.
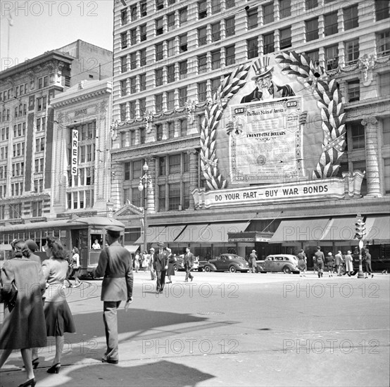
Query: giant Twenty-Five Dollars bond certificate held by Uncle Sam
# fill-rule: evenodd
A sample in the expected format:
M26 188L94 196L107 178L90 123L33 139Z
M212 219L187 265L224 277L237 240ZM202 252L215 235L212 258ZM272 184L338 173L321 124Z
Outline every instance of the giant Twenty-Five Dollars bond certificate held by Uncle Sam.
M286 182L303 176L301 97L231 106L232 184Z

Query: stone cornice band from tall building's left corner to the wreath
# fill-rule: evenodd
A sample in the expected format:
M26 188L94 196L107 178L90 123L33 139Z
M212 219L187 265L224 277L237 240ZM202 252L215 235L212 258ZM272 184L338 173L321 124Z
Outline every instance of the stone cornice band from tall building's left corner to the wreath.
M169 139L165 141L151 142L147 144L138 144L127 148L112 149L111 160L116 163L134 160L139 157L153 157L165 155L172 150L185 151L199 147L199 134L184 139Z

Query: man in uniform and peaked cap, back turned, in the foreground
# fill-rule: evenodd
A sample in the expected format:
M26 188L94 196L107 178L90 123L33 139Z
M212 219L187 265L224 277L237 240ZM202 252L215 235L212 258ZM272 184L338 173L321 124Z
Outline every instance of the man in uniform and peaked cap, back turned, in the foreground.
M118 364L117 310L122 300L127 301L125 308L132 302L132 258L130 252L118 242L122 227L107 226L106 231L108 247L101 251L98 266L94 272L95 277L104 277L101 284L101 300L103 301L107 350L101 361Z

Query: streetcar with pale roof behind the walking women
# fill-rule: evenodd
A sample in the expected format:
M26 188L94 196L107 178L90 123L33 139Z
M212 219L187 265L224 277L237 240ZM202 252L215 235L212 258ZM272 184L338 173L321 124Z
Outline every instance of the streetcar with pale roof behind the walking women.
M0 226L0 246L4 247L0 247L0 250L5 250L5 246L9 246L13 239L32 239L39 248L34 254L39 255L43 261L47 258L44 251L46 237L52 235L60 239L69 255L72 254L73 247L80 250L80 277L92 277L101 249L106 247L104 228L108 225L122 227L119 242L123 245L125 224L122 222L108 217L77 217L70 220ZM97 245L99 247L96 247Z

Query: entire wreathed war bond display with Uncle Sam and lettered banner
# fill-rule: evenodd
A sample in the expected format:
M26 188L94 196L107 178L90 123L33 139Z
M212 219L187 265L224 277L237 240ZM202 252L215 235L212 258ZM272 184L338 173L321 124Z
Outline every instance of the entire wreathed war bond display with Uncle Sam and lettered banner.
M240 65L205 113L201 173L208 187L192 192L197 208L343 198L351 191L338 172L346 146L341 93L305 54Z

